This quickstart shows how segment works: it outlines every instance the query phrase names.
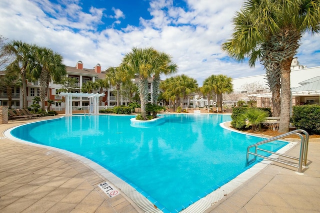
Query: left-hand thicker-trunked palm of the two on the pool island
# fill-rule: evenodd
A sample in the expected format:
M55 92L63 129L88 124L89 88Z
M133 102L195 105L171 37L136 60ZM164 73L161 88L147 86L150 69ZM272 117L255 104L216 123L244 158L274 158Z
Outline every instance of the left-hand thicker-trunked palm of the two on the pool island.
M125 54L122 59L121 69L131 76L138 76L138 91L141 104L141 117L146 120L145 105L148 102L148 78L154 74L154 58L157 54L152 47L137 48Z

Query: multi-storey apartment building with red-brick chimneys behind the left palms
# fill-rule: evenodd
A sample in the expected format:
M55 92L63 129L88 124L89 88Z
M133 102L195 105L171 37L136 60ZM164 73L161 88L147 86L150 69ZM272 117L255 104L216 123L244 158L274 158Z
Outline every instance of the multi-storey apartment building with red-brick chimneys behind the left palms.
M105 74L108 69L102 70L100 64L96 64L92 69L84 68L82 61L78 61L75 66L66 66L66 76L70 78L77 79L76 88L74 88L72 93L81 93L82 85L87 81L95 82L98 79L105 79ZM4 72L1 72L0 75L4 75ZM152 78L148 79L148 89L149 93L152 90ZM138 84L138 79L134 79L134 83ZM64 110L65 103L62 101L62 96L59 95L58 90L62 88L59 84L54 84L53 82L49 83L49 99L54 100L55 104L51 106L51 110ZM27 106L31 106L35 96L39 96L39 82L38 81L27 81ZM22 106L22 92L20 92L20 87L12 87L12 108L20 108ZM94 93L98 93L98 90L95 90ZM99 97L99 108L113 107L116 105L116 90L114 85L109 85L108 88L103 88L103 97ZM129 100L120 97L120 105L127 105ZM0 91L0 105L7 106L8 99L7 93L4 89ZM72 97L72 110L76 109L85 109L88 110L89 107L89 98L87 97Z

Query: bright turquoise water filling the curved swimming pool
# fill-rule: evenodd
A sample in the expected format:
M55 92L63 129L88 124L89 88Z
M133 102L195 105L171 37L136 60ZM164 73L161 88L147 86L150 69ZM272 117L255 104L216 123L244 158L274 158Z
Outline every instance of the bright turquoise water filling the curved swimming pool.
M68 116L20 126L11 134L98 163L164 212L181 211L243 172L246 147L263 140L221 128L229 115L160 116L165 122L149 128L132 127L133 116Z

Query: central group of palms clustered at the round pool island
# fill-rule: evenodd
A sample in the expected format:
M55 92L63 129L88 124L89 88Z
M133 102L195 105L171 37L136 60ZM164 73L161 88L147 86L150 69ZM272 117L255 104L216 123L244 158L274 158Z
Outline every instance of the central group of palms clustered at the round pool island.
M117 105L119 104L120 85L128 85L137 77L138 93L140 97L141 116L146 120L145 106L148 102L148 79L152 81L152 103L156 104L159 96L160 75L173 74L177 71L177 65L172 62L172 57L164 52L159 52L152 47L133 47L124 55L118 67L110 68L106 74L109 82L117 91ZM132 87L130 87L132 88Z

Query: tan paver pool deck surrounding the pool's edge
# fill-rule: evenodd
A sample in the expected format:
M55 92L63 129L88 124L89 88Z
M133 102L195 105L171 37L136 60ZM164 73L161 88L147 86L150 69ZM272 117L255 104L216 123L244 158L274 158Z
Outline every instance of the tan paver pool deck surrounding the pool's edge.
M28 121L9 121L0 131L1 213L136 213L134 202L120 194L109 198L97 186L105 180L82 162L46 148L21 144L3 135ZM299 146L287 154L298 156ZM272 163L212 204L206 213L318 212L320 209L320 141L310 140L308 169ZM156 211L156 210L154 210Z

